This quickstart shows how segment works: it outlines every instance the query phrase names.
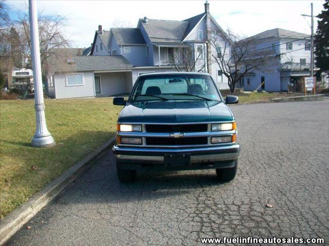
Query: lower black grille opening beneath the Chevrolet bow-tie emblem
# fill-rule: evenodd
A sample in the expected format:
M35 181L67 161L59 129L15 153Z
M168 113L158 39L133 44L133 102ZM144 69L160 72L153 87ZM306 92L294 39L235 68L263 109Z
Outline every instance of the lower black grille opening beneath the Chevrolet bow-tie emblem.
M207 145L208 137L146 137L147 145L169 146L169 145Z

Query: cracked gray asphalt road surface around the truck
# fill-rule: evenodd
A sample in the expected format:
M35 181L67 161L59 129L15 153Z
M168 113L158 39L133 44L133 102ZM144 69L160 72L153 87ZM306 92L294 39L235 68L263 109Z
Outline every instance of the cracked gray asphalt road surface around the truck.
M9 245L176 245L200 237L322 237L329 244L329 100L232 106L236 178L140 173L124 185L107 152ZM273 208L266 208L271 204ZM31 229L26 229L30 226Z

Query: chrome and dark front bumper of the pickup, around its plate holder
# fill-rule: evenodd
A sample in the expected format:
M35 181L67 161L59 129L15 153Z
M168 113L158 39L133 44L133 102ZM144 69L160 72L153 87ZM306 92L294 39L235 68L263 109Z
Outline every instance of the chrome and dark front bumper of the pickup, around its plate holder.
M240 145L227 145L205 148L127 148L113 146L113 154L123 169L158 169L187 170L234 167L240 153ZM168 166L165 156L184 154L191 155L190 165Z

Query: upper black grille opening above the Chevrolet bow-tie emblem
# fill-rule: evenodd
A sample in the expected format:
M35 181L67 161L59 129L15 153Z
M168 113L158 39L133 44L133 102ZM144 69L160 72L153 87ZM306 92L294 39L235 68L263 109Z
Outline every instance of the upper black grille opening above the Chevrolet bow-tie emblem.
M147 132L207 132L208 124L145 125Z

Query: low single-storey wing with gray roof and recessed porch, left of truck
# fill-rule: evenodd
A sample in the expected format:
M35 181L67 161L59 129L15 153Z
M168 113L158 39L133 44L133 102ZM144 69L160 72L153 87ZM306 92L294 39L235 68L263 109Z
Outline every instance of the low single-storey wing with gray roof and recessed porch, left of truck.
M121 55L52 57L48 60L54 98L95 97L129 93L133 66Z

